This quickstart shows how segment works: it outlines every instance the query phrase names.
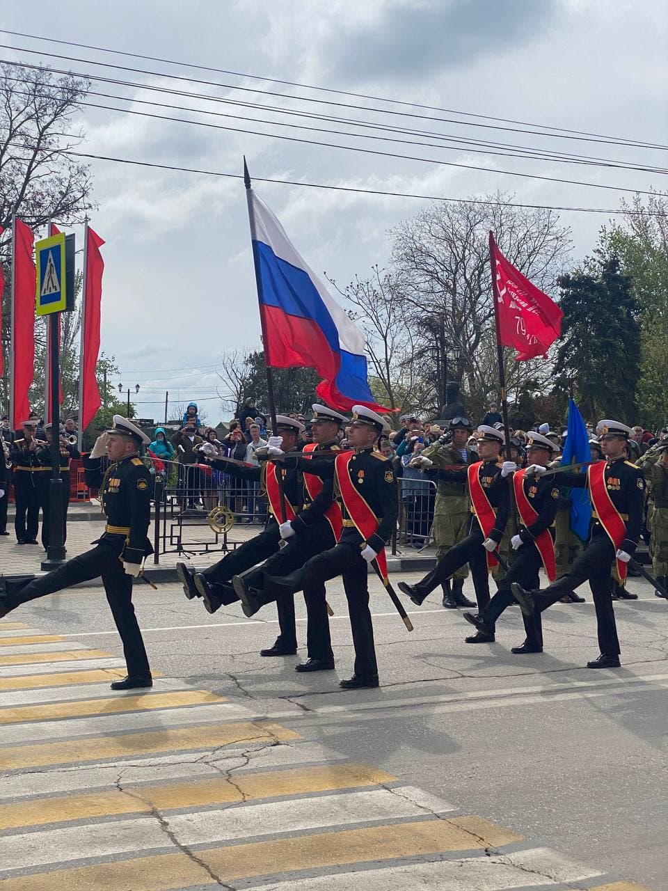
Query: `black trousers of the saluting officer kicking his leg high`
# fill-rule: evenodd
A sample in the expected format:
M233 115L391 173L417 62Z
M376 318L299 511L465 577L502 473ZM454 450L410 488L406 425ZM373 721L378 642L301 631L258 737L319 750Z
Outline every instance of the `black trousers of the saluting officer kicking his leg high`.
M126 658L127 674L147 677L151 674L149 660L143 645L142 632L132 603L132 580L123 568L120 555L126 543L125 535L105 535L94 548L79 554L53 572L32 581L14 593L11 580L7 581L7 600L13 606L37 600L46 594L62 591L71 584L89 582L102 576L102 584L107 594L111 615L118 629L123 653Z

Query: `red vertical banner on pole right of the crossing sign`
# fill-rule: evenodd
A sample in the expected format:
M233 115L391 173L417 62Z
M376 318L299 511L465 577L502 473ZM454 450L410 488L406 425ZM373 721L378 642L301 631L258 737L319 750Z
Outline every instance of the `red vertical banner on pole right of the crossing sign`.
M82 361L79 374L82 375L81 404L79 422L81 432L93 421L102 400L97 386L95 369L100 355L100 322L102 307L102 272L104 260L100 248L104 241L86 227L86 267L84 269L84 320L82 325Z

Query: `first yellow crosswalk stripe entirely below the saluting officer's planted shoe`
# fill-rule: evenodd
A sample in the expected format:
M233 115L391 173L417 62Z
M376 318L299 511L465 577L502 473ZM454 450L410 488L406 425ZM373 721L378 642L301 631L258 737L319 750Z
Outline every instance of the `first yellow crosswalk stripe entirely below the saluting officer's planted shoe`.
M120 712L142 712L153 708L202 706L227 702L203 690L138 693L132 696L110 696L99 699L73 699L68 702L45 702L43 705L0 708L0 724L24 721L52 721L58 718L80 718L89 715L118 715Z

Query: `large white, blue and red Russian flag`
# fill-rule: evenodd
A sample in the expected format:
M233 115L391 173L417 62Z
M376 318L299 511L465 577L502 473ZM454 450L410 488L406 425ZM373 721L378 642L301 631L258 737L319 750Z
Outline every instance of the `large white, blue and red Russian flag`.
M331 408L346 412L366 405L387 412L369 388L362 331L299 256L265 202L248 192L267 366L314 368L322 377L315 392Z

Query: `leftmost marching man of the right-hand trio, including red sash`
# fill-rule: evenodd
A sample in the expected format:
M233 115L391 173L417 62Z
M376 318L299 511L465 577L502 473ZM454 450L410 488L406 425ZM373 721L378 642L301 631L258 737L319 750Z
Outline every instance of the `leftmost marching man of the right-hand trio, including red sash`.
M466 483L471 499L471 514L468 523L468 535L459 544L455 544L444 559L436 565L420 582L408 584L399 582L398 587L408 594L413 603L420 606L422 601L444 579L452 576L465 563L471 568L473 584L476 589L478 612L482 612L489 603L488 569L497 560L493 552L501 543L503 532L509 517L509 489L503 485L495 485L501 462L499 455L503 446L502 430L483 424L478 427L481 434L477 441L478 454L481 461L469 464L462 470L437 470L436 476L447 482ZM507 462L515 468L515 462ZM493 634L478 631L466 638L467 643L491 643Z

